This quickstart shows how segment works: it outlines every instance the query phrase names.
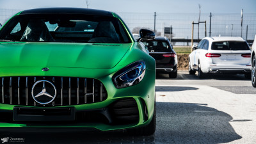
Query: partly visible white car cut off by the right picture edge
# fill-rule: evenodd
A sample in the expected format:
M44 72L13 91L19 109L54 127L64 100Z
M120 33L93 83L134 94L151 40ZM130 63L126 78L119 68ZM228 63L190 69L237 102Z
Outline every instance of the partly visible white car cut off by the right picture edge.
M256 88L256 35L254 37L254 41L252 44L252 54L251 54L251 60L252 60L252 86Z

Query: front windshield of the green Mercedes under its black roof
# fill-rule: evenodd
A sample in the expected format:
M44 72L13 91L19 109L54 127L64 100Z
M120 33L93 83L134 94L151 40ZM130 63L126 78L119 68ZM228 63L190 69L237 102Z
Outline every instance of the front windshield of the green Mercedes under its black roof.
M72 14L17 15L0 32L0 39L20 42L129 43L115 17Z

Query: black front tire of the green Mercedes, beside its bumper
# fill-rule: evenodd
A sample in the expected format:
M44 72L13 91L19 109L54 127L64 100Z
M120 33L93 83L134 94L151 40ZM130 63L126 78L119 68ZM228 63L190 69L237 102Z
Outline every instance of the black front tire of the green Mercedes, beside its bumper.
M138 127L134 129L127 129L127 132L133 136L149 136L154 134L156 131L156 98L154 105L154 114L151 122L143 127Z

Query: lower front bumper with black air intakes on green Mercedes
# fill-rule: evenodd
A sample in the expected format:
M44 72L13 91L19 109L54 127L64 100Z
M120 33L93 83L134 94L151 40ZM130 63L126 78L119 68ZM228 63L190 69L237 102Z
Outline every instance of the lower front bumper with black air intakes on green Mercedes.
M134 101L134 104L131 102ZM127 105L127 103L132 105ZM126 105L125 105L126 104ZM3 106L3 104L1 104ZM123 107L122 107L123 106ZM19 109L19 112L17 112ZM29 109L33 109L30 111ZM26 108L15 106L13 110L0 111L0 129L8 127L22 128L63 128L63 127L92 127L102 131L113 129L127 129L145 125L150 122L147 106L143 99L135 97L115 100L106 108L77 110L76 106L62 107L73 109L74 113L51 115L52 113L38 113L53 111L60 108ZM74 118L74 120L72 120Z

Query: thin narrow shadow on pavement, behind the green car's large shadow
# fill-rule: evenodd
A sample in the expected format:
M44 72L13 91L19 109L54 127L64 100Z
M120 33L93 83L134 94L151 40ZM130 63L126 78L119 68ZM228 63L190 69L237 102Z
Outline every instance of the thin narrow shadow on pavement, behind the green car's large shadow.
M185 90L198 90L189 86L156 86L156 92L180 92Z

